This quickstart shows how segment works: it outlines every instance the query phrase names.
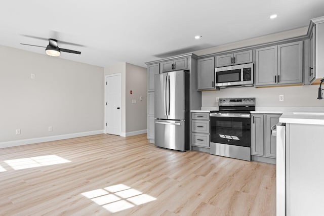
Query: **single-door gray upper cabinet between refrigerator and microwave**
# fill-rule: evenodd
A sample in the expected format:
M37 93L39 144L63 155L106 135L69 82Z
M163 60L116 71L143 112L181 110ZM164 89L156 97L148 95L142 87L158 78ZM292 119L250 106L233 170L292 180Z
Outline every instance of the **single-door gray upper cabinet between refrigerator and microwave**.
M197 85L198 90L215 89L214 57L198 59Z

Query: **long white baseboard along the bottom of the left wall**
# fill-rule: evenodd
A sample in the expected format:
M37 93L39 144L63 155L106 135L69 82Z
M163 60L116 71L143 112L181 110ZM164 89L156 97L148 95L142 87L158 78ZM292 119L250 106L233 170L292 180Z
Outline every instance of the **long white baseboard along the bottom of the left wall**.
M85 137L85 136L97 135L97 134L104 134L104 131L103 130L88 131L88 132L81 132L81 133L74 133L74 134L63 134L63 135L57 135L57 136L51 136L51 137L39 137L39 138L32 138L32 139L25 139L25 140L14 140L14 141L8 141L8 142L1 142L0 148L22 146L22 145L28 145L28 144L34 144L34 143L43 143L43 142L49 142L49 141L55 141L55 140L64 140L64 139L70 139L70 138L76 138L76 137Z

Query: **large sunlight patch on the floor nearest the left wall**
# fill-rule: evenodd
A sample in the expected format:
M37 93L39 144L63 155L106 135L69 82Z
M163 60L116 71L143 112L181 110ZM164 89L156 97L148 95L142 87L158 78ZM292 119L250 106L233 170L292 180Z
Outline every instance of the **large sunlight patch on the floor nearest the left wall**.
M53 154L53 155L44 155L44 156L37 156L37 157L20 158L14 160L5 160L5 162L13 169L18 170L18 169L48 166L48 165L54 165L60 163L68 163L71 161Z

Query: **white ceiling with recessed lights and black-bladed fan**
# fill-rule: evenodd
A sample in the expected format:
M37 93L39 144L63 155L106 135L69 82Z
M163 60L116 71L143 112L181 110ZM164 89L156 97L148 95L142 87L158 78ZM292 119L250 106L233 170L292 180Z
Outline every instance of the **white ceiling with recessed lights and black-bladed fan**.
M278 17L270 20L274 13ZM157 56L295 29L323 15L323 0L11 0L0 7L0 44L45 55L44 48L20 43L47 46L48 41L23 35L55 37L84 46L59 44L82 52L60 58L103 67L145 66Z

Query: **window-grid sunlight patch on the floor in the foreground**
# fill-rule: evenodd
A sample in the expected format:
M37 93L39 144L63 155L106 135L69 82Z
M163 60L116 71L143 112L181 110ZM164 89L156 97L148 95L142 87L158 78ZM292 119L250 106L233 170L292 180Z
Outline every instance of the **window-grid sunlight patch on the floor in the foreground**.
M123 184L88 191L82 195L112 213L156 200L155 197Z

